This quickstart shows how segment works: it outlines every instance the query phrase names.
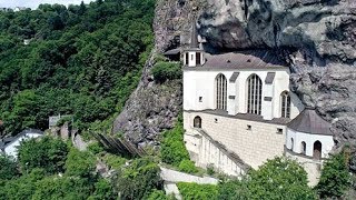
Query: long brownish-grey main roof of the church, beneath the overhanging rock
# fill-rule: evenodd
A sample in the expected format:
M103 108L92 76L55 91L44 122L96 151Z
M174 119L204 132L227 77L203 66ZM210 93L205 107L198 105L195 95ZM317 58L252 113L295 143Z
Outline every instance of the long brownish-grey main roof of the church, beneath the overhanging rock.
M206 54L205 68L224 69L265 69L285 68L286 62L279 60L275 53L266 50L229 52L222 54Z

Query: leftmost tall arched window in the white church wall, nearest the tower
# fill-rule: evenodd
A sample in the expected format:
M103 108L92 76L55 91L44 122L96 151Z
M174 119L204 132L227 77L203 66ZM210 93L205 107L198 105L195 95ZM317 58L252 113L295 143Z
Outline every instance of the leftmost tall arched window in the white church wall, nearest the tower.
M227 102L227 79L224 74L218 74L216 78L216 108L226 110Z

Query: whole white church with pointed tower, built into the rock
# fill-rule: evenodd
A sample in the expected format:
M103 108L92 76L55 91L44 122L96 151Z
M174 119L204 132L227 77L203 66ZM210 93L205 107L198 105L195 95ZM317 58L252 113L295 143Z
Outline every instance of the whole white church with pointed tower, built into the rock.
M197 166L231 176L267 159L297 159L318 179L330 124L289 91L289 68L265 50L206 53L195 26L184 50L185 142Z

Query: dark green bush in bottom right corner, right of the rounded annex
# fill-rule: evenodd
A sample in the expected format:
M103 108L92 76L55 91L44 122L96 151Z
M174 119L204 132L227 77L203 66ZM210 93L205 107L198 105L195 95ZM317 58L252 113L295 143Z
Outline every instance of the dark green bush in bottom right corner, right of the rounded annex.
M316 191L322 198L342 197L349 187L350 174L345 154L332 156L324 162Z

